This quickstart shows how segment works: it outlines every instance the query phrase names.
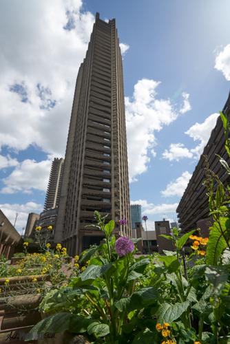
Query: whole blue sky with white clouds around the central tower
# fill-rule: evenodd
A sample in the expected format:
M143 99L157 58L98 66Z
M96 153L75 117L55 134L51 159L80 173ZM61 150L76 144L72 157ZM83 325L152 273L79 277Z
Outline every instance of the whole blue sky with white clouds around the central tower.
M148 228L176 217L229 94L229 1L1 3L0 208L17 230L40 213L64 158L74 85L96 12L123 52L130 197Z

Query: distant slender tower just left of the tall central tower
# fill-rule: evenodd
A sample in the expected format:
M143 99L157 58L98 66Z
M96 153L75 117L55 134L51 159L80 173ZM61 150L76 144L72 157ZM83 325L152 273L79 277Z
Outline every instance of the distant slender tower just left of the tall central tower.
M55 208L59 205L59 197L61 191L61 181L63 177L64 159L54 158L50 171L50 180L47 193L45 196L44 210Z

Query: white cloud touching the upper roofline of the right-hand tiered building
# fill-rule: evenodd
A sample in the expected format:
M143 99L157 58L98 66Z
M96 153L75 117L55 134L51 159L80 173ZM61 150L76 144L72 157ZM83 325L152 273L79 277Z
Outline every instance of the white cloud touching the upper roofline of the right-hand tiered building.
M191 153L193 153L195 158L199 159L200 154L202 154L210 136L211 136L211 130L216 125L216 120L218 118L219 114L212 114L209 117L206 118L205 122L202 123L196 123L193 125L189 130L185 131L187 135L189 135L191 138L196 140L200 140L200 144L196 146L196 148L191 149Z

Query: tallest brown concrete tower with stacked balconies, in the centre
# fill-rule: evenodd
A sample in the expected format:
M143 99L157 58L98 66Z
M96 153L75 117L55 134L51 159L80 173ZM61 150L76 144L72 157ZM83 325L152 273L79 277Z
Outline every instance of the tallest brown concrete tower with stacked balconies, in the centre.
M115 220L116 237L132 237L121 49L115 19L98 13L76 80L54 237L69 255L103 239L87 226L95 210Z

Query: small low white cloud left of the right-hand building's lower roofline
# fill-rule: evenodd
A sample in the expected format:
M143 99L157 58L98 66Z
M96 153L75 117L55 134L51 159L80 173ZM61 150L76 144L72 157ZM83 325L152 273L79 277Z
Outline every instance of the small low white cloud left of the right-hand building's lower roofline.
M182 173L181 177L176 179L176 182L170 182L170 184L167 185L167 188L165 191L160 191L164 197L169 196L175 196L181 197L183 193L185 192L185 189L187 187L187 184L191 178L191 174L186 171Z

